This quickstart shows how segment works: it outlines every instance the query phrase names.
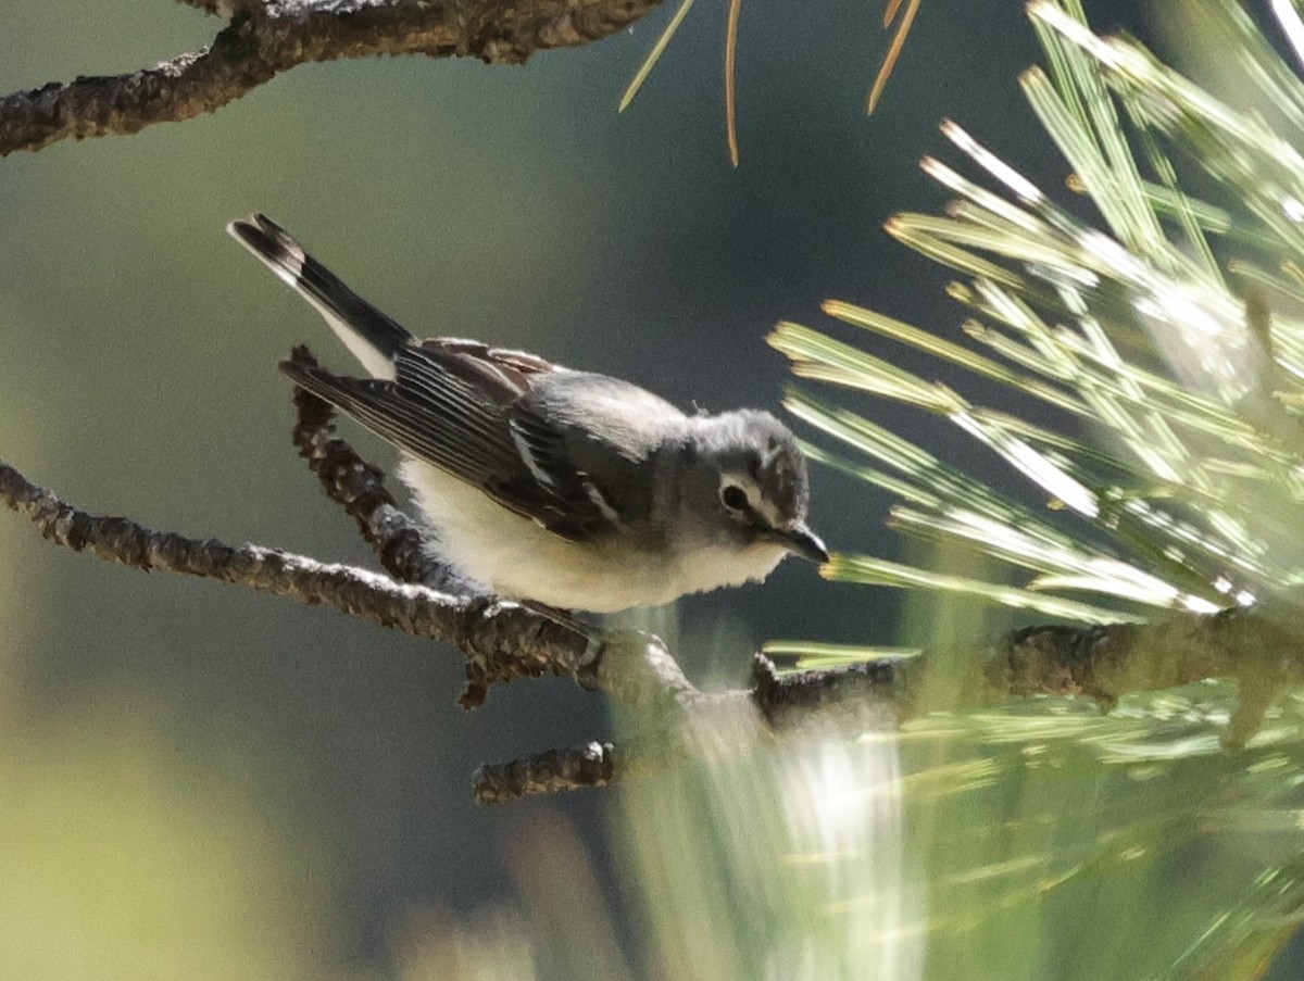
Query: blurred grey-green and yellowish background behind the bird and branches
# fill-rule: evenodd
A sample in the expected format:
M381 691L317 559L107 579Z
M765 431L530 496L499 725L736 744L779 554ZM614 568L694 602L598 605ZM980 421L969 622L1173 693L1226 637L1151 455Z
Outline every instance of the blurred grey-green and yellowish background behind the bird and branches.
M1150 38L1148 7L1088 10ZM945 273L882 224L940 206L917 160L943 117L1060 185L1018 95L1038 59L1022 4L925 3L874 117L879 5L747 5L738 170L722 7L699 4L615 112L670 13L524 68L306 65L209 117L4 159L0 458L94 513L373 566L289 445L275 367L299 342L335 367L347 355L223 234L253 210L417 334L522 347L685 406L777 411L785 364L764 334L780 318L838 331L825 297L953 335ZM7 93L150 65L220 25L156 0L14 0L3 26ZM925 425L893 411L875 408ZM935 445L987 466L957 437ZM814 474L832 548L901 557L883 518L866 487ZM789 562L653 622L694 680L737 685L767 638L918 642L900 621L900 596ZM640 792L489 810L469 793L480 762L608 734L602 699L544 680L467 714L460 686L451 648L146 578L0 515L0 978L456 977L514 947L545 977L643 973L613 828L636 823ZM588 938L580 963L549 917Z

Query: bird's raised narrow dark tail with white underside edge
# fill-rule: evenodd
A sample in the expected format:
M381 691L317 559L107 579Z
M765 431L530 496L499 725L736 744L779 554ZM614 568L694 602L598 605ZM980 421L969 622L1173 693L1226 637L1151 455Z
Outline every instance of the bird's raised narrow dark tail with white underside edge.
M231 222L227 231L316 307L370 374L394 377L394 356L412 339L406 327L344 286L267 215Z

